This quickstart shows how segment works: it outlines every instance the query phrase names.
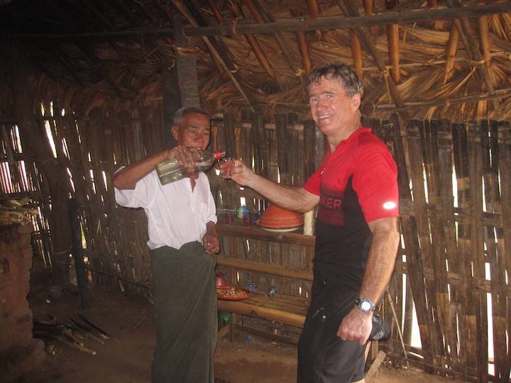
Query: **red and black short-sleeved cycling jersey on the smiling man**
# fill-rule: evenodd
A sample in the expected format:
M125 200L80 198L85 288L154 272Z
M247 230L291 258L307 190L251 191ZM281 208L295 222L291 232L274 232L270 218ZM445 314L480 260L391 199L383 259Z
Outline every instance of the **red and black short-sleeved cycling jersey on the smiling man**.
M368 222L399 215L397 167L370 128L327 152L304 188L319 195L314 279L358 289L372 233Z

